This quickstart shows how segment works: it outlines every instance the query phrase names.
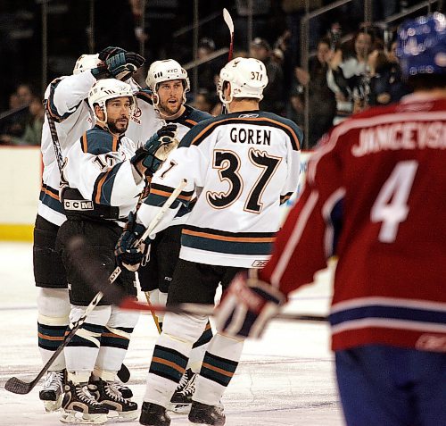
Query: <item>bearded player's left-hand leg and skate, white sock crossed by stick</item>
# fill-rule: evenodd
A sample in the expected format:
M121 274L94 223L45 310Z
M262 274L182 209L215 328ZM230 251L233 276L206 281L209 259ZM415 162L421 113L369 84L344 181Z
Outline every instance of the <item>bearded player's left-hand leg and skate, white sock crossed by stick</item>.
M73 306L70 322L76 322L84 310L83 306ZM97 306L65 348L67 384L61 422L102 424L107 421L109 410L95 400L91 393L95 388L88 385L88 380L95 367L104 326L110 316L111 306Z

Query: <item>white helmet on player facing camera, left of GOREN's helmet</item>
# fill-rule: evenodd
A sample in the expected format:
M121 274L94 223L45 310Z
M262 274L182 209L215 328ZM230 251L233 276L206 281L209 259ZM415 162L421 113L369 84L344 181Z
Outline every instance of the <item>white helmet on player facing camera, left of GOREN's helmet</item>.
M185 91L183 93L183 103L186 102L186 92L191 88L189 78L187 77L187 71L174 59L164 59L163 61L155 61L150 65L149 71L147 71L147 77L145 83L155 95L153 103L156 105L159 102L158 99L158 85L163 81L169 81L172 79L183 80L183 87Z

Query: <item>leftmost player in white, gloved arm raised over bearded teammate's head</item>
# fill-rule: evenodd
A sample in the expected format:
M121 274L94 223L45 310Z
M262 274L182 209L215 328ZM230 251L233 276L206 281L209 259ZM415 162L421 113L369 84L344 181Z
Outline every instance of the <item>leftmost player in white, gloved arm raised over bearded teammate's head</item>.
M94 114L86 99L96 79L107 75L127 79L142 63L144 59L141 56L110 46L100 54L81 55L71 76L63 76L51 82L45 90L45 107L54 121L62 157L94 124ZM42 361L46 363L63 341L70 313L65 271L60 256L54 250L57 230L65 221L65 215L59 199L59 164L46 116L41 151L44 170L34 229L33 263L38 288L38 347ZM45 377L39 397L44 401L47 411L56 410L62 404L64 368L65 361L61 355ZM127 396L131 396L128 391Z

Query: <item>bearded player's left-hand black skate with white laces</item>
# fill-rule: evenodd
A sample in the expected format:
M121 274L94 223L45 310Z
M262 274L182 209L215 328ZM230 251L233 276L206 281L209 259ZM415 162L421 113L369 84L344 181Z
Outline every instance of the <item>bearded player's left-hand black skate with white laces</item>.
M68 381L62 401L62 423L103 424L107 422L109 409L98 403L88 390L87 383Z

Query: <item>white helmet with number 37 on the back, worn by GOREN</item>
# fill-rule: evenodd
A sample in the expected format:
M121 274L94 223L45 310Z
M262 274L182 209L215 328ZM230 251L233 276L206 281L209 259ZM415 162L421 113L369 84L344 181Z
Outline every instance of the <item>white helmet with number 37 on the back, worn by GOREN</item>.
M225 81L231 83L228 99L223 97ZM268 75L265 64L254 58L235 58L228 62L219 75L219 98L229 104L235 97L253 97L261 100L267 87Z

